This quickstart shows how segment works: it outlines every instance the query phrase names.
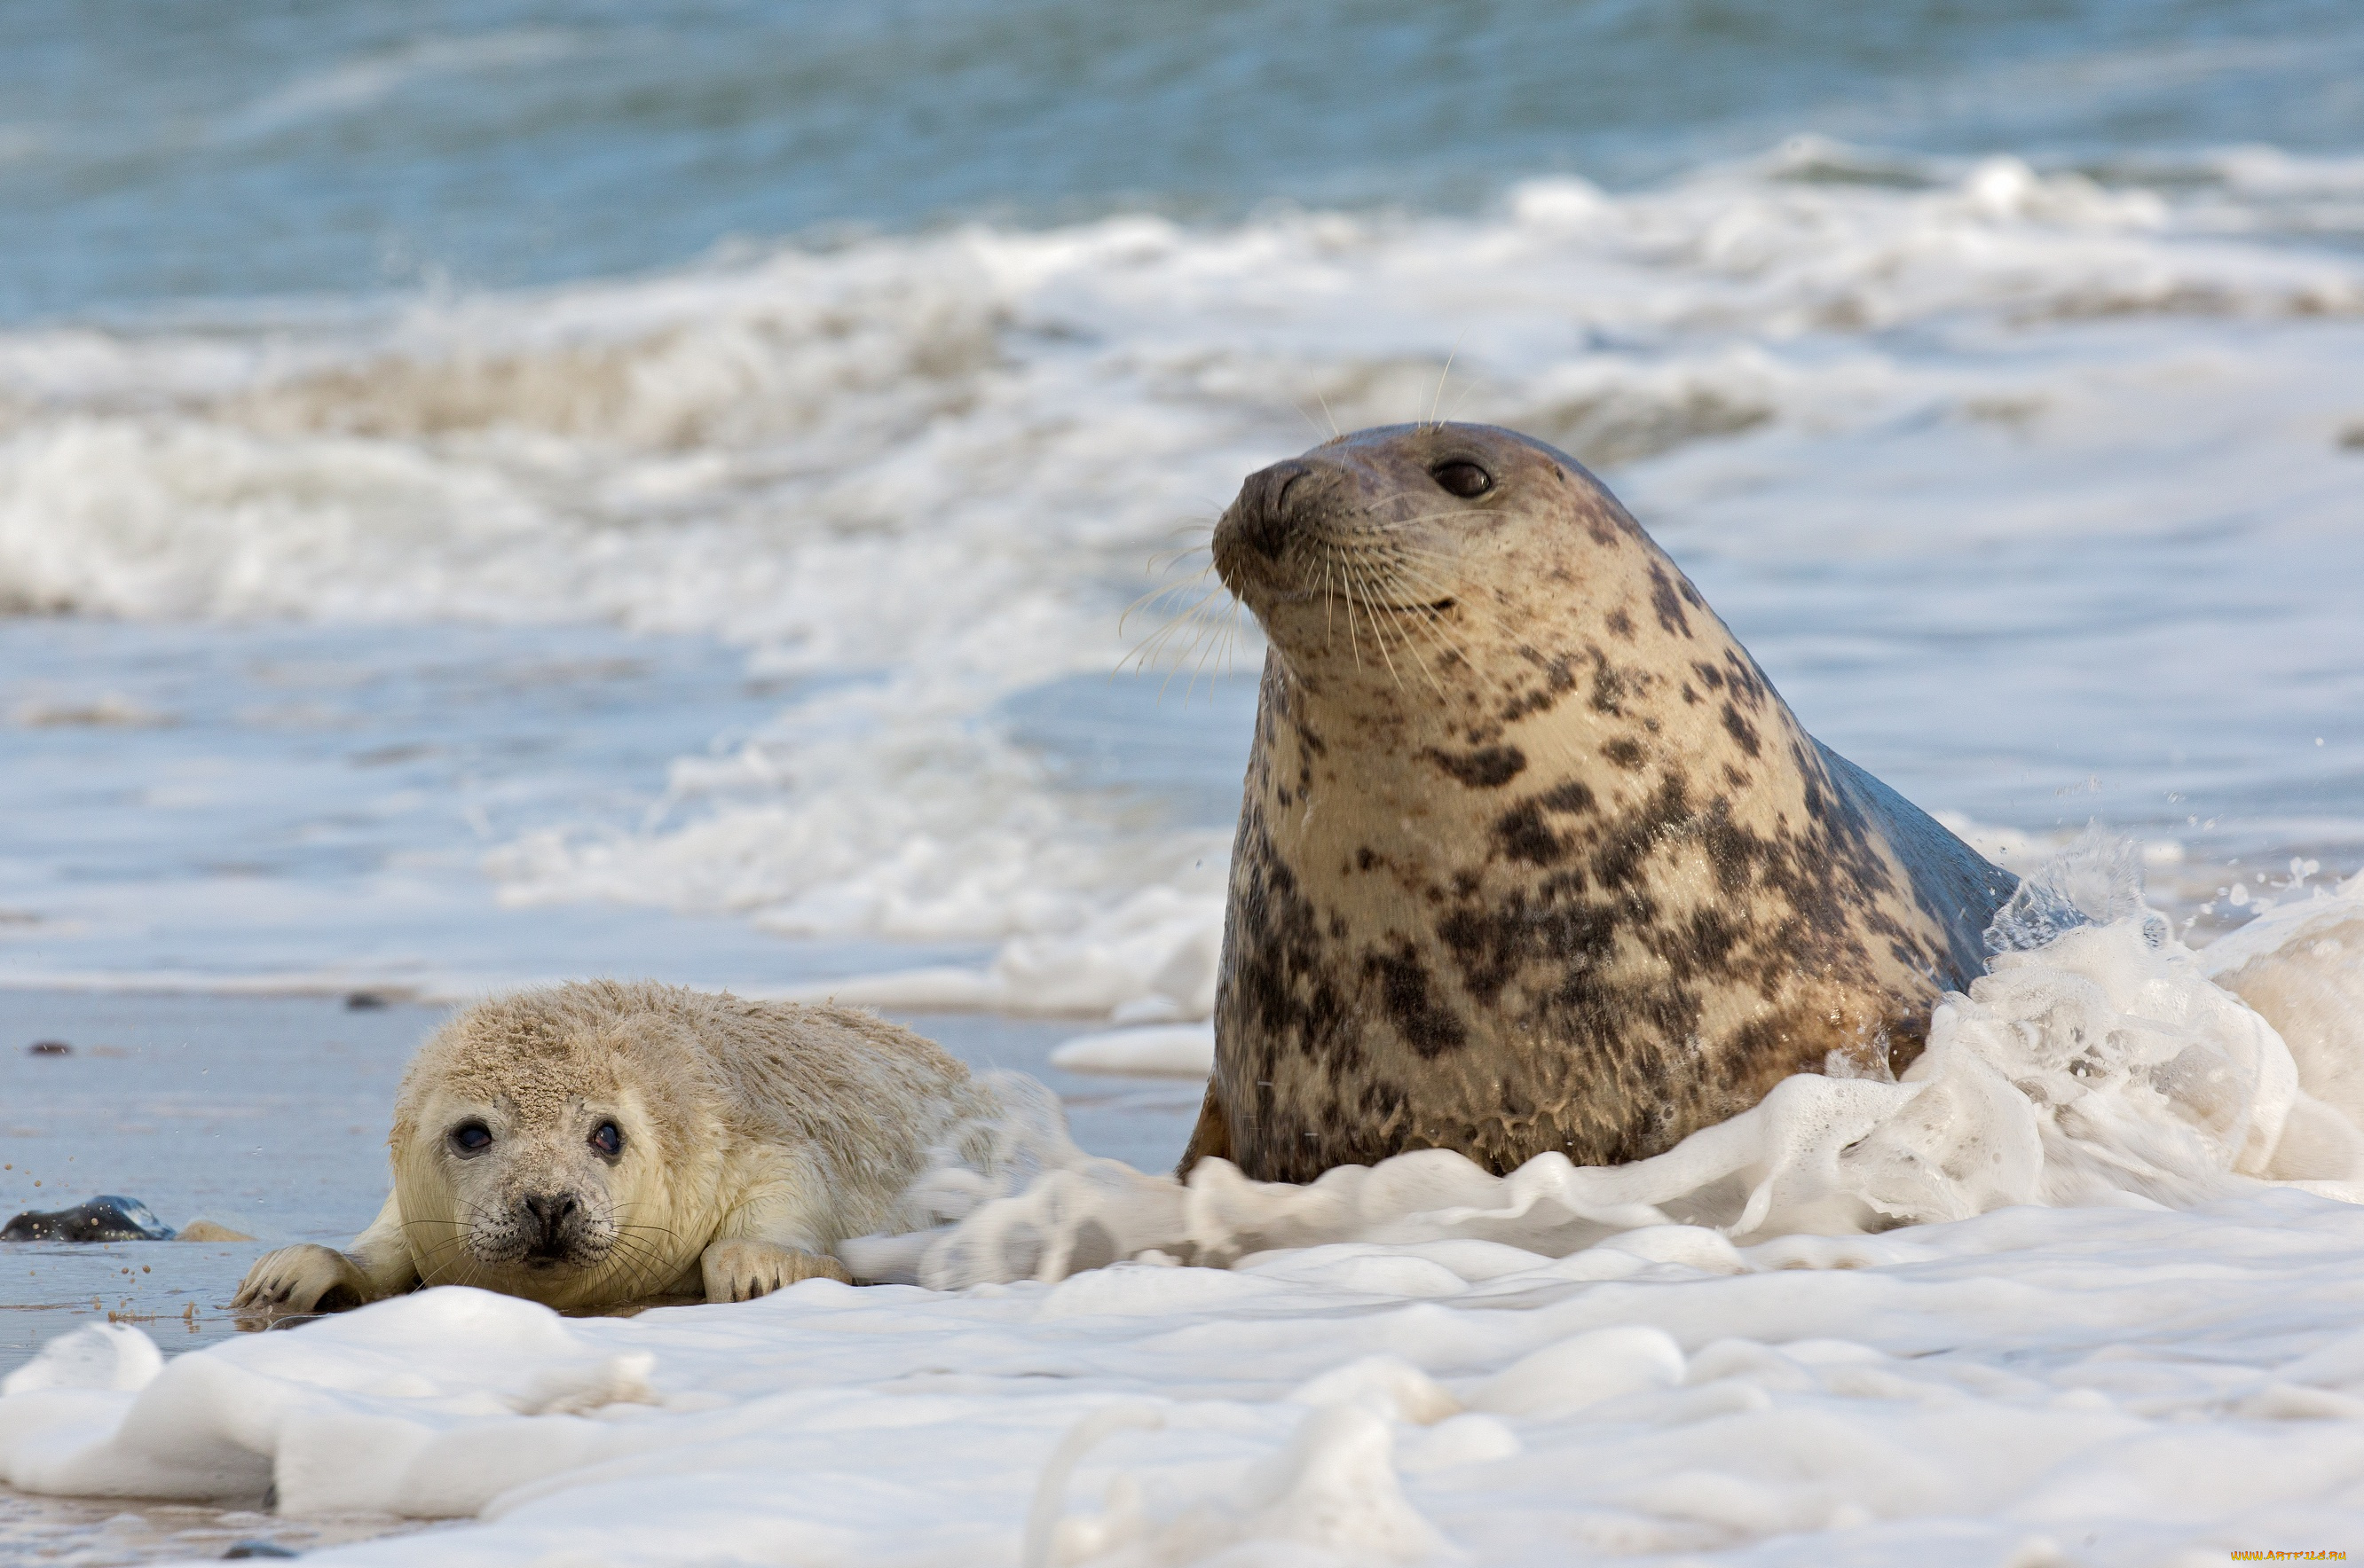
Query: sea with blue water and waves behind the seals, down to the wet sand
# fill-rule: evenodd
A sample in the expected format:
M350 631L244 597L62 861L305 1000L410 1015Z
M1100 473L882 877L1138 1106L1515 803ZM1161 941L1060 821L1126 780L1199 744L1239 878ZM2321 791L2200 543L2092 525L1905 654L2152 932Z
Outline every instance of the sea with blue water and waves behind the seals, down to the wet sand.
M2364 862L2345 7L5 17L9 982L1203 1015L1189 550L1433 411L1998 855Z

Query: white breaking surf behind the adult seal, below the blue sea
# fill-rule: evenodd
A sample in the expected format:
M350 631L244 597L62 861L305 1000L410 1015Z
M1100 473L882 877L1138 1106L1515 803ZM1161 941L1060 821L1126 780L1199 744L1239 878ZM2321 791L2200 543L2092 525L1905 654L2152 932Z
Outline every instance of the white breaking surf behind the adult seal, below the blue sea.
M1482 220L960 229L7 333L0 605L730 638L790 690L773 730L683 760L641 834L496 852L506 897L1007 942L872 994L1203 1015L1220 834L1064 789L995 706L1116 666L1144 560L1310 411L1513 423L1641 465L1652 522L1742 555L2139 536L2229 496L2260 531L2345 527L2364 269L2269 231L2265 191L2314 165L2232 158L2201 203L2009 158L1816 175L1846 156L1537 182ZM2227 439L2158 453L2163 425Z

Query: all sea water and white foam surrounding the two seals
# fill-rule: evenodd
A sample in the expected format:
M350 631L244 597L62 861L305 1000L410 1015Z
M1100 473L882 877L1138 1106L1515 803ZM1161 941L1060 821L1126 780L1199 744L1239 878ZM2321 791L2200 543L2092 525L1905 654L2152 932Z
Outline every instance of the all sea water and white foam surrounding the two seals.
M24 2L0 45L0 1025L90 1046L0 1074L0 1188L336 1237L409 1004L574 973L969 1008L924 1027L1097 1065L1052 1082L1123 1159L875 1244L929 1289L629 1322L208 1344L225 1244L26 1254L9 1485L485 1563L2364 1530L2364 12ZM1144 1176L1260 659L1194 550L1430 416L1567 446L1818 737L2168 923L1648 1167ZM0 1502L0 1561L251 1518Z

